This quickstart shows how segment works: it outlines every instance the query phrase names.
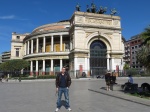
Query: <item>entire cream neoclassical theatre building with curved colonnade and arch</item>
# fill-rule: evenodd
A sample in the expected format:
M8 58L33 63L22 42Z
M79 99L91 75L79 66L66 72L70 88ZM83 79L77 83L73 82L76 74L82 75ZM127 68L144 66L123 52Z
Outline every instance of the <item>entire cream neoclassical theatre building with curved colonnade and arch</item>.
M70 20L40 26L30 34L12 34L11 59L30 62L30 75L52 75L62 67L100 75L122 68L124 43L120 17L75 12Z

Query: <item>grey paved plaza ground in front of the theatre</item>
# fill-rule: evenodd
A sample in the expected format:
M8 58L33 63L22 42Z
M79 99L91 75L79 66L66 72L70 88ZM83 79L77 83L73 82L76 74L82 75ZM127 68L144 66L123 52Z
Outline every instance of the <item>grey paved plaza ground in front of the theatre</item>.
M126 78L118 78L125 83ZM150 78L134 78L139 86ZM106 91L103 79L73 79L70 87L72 112L149 112L150 100ZM0 83L0 112L54 112L54 80L9 81ZM64 97L62 97L62 101ZM59 112L67 112L64 106Z

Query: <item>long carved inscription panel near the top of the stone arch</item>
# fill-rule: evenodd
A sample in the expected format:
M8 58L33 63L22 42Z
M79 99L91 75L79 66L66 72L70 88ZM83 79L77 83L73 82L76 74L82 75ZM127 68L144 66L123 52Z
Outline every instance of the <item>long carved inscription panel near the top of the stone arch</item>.
M85 23L100 24L100 25L112 25L112 20L85 18Z

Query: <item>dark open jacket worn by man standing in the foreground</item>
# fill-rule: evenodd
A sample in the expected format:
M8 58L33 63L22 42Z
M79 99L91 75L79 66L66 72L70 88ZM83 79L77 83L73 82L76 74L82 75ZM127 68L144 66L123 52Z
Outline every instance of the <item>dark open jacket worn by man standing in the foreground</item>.
M61 72L59 74L57 74L56 82L55 82L56 83L56 88L59 88L60 80L61 80L61 75L62 75ZM64 76L65 76L65 80L66 80L66 87L69 87L71 85L71 77L66 72L65 72Z

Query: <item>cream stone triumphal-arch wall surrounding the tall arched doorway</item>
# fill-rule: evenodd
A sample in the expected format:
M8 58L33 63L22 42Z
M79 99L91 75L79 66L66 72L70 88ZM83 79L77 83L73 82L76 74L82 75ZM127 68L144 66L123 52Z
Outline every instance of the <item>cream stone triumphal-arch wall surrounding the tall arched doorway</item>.
M79 70L82 65L84 70L90 69L90 45L95 40L101 40L107 46L107 69L116 70L121 66L124 54L120 18L117 16L99 15L84 12L75 12L71 18L71 38L73 50L73 70ZM82 53L81 53L82 52Z

